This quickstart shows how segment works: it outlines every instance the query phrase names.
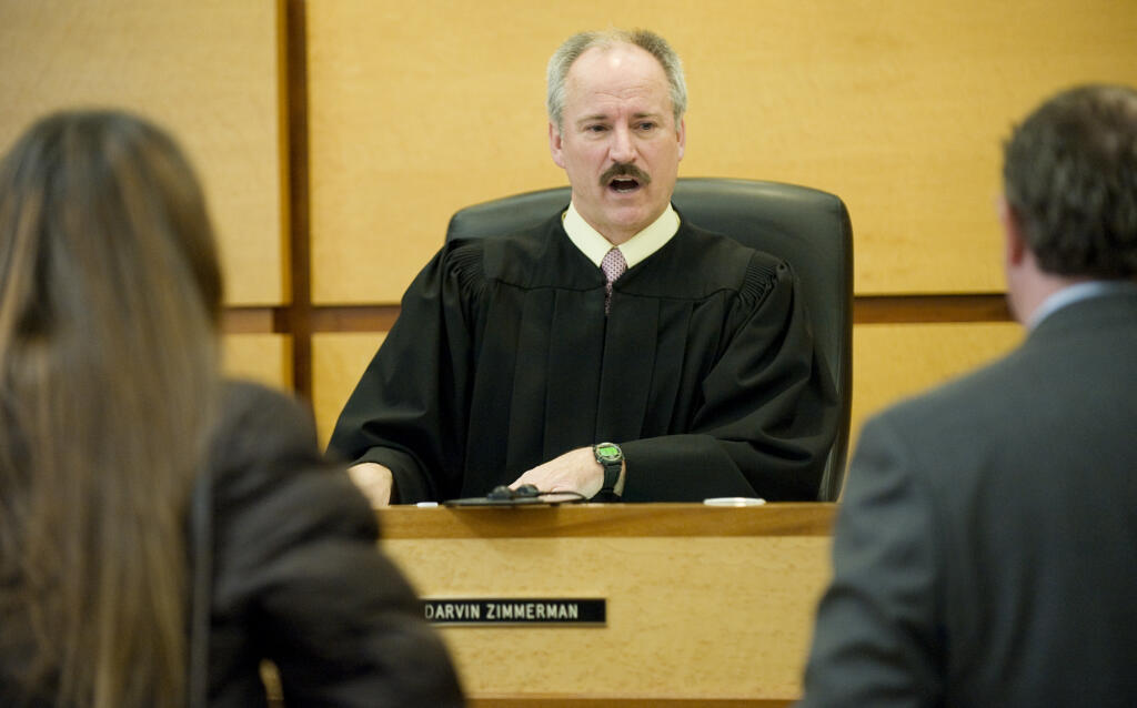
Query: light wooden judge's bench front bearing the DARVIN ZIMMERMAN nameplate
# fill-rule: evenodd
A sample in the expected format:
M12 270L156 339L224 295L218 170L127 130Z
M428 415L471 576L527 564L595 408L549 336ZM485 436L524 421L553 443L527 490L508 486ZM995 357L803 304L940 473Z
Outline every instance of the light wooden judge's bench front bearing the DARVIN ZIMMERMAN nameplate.
M471 706L773 708L800 695L835 513L653 503L379 516L382 547L422 595Z

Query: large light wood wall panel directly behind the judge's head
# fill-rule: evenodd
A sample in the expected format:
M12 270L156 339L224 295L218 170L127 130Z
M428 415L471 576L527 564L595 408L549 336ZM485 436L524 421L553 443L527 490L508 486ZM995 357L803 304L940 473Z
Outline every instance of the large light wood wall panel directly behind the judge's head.
M1081 81L1137 83L1115 0L599 0L308 6L313 292L396 302L468 203L564 183L543 67L576 30L648 26L690 90L680 174L848 203L861 293L1002 288L999 142Z

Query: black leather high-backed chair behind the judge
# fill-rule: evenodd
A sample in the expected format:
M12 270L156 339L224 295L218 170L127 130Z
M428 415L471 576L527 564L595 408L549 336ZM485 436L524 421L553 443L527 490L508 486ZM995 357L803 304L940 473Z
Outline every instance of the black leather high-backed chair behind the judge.
M447 240L508 233L549 218L570 201L567 186L505 197L459 210ZM821 480L836 501L845 478L853 381L853 227L845 203L819 190L750 180L680 178L672 203L684 217L789 261L802 283L839 400L837 438Z

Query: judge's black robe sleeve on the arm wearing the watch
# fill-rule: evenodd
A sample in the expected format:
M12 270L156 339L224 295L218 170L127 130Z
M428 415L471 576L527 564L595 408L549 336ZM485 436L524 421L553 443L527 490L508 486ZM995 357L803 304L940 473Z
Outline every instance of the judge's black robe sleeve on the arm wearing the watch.
M836 433L832 376L789 266L756 258L746 280L690 428L617 441L625 501L816 500Z

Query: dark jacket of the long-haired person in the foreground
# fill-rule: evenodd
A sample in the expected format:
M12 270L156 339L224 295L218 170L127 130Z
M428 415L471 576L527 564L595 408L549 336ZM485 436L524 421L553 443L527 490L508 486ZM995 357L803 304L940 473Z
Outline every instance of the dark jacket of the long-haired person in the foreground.
M375 514L324 464L309 416L250 384L226 391L214 448L209 706L458 706L415 595L376 548Z

